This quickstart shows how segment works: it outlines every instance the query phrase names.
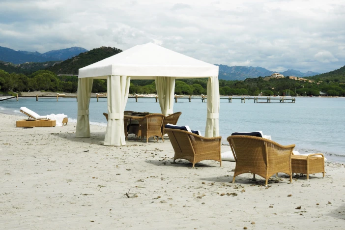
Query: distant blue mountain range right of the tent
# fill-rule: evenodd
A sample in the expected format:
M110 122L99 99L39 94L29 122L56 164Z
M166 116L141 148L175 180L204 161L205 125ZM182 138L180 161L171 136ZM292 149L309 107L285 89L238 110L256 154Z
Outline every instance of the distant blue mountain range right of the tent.
M217 65L217 64L216 64ZM228 66L228 65L218 65L219 66L219 79L223 80L245 80L246 78L257 78L270 76L273 73L277 73L262 67L252 67L252 66ZM302 73L299 70L288 69L284 72L278 72L284 76L295 76L295 77L309 77L320 73L308 71Z

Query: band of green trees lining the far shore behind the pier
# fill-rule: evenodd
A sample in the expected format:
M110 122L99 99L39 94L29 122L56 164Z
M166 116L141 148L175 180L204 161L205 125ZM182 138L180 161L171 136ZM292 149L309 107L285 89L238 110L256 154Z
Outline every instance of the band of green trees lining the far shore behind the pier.
M345 96L345 84L340 82L304 82L288 78L248 78L244 81L219 80L221 95L303 95L318 96L320 91L331 96ZM176 79L175 94L201 95L206 94L207 78ZM39 70L32 74L7 73L0 70L0 91L53 91L77 92L78 77L58 76L49 70ZM106 92L107 80L95 79L92 92ZM132 80L129 93L156 93L154 80Z

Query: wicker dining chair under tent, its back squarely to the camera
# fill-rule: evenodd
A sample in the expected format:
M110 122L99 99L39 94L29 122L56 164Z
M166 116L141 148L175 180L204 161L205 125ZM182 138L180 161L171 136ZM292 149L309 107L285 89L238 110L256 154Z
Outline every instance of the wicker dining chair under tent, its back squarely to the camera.
M146 137L146 143L148 143L148 138L153 136L153 139L156 141L155 136L161 137L163 142L163 134L162 134L162 125L165 115L163 114L149 114L145 115L140 120L140 127L141 127L141 140L143 141L143 137Z

